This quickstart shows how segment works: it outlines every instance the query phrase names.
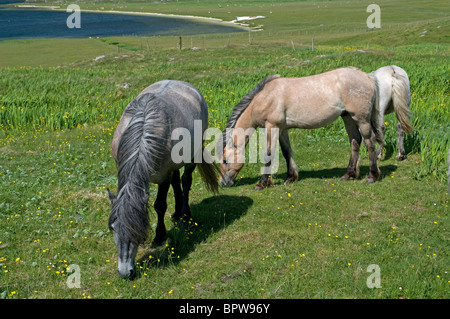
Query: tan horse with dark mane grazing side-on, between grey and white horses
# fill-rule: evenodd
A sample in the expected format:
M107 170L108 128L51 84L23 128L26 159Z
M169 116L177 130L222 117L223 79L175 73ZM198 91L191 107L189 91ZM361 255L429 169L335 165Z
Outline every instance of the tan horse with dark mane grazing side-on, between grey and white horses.
M380 175L375 152L375 142L379 142L381 138L377 91L376 79L353 67L300 78L269 76L235 106L226 131L266 128L266 154L269 157L275 152L276 135L279 135L281 150L287 163L285 183L288 183L298 179L298 168L294 162L288 130L319 128L342 117L352 150L342 180L358 177L359 148L364 139L370 161L367 182L373 183ZM278 129L279 134L271 134L273 128ZM229 159L242 156L248 138L229 138L228 132L224 132L224 136L228 137L223 139L221 184L231 186L244 163L236 160L230 163ZM270 166L271 160L265 161L265 164ZM263 174L255 189L271 185L271 174Z

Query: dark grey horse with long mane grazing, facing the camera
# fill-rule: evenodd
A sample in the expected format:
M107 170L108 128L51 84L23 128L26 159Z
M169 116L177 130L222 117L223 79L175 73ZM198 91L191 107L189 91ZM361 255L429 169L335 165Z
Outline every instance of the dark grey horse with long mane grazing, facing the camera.
M109 228L114 235L118 251L118 271L122 278L135 275L134 260L137 248L148 235L147 205L150 183L158 184L154 203L158 215L155 244L166 238L164 214L167 192L172 185L175 195L173 218L189 220L189 190L196 163L194 155L203 150L203 141L197 149L190 143L190 162L172 158L175 141L171 138L177 128L188 130L194 136L194 121L201 121L202 132L208 126L208 109L200 92L191 84L181 81L160 81L144 89L125 108L114 132L112 155L118 169L117 196L108 190L111 201ZM217 192L218 168L205 162L198 163L206 186ZM184 166L181 178L180 168Z

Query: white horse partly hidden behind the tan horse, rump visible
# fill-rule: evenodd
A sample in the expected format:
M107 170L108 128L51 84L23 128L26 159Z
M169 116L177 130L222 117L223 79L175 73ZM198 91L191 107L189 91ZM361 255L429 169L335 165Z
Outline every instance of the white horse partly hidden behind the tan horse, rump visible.
M397 117L398 155L397 159L405 160L406 152L403 145L404 132L411 133L412 126L409 121L411 110L411 91L409 88L408 74L396 65L383 66L370 73L378 82L380 98L381 143L378 145L378 159L383 157L384 134L386 126L384 115L395 112Z

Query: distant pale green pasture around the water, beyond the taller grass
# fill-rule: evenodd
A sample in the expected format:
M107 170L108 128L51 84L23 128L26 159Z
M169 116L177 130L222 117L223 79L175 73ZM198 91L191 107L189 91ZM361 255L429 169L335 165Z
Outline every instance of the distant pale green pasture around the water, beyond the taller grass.
M54 5L64 10L71 1L37 0L32 5ZM201 16L232 21L237 16L264 16L249 20L252 44L290 46L295 48L335 45L341 48L372 48L395 50L404 45L450 43L450 23L446 14L450 5L434 1L378 1L381 8L381 29L370 31L366 12L371 1L79 1L81 10L153 12ZM16 4L14 4L16 5ZM426 31L425 33L423 33ZM122 38L138 49L177 48L178 37ZM185 48L223 48L249 44L248 34L199 35L186 37ZM1 66L56 66L65 62L120 53L117 46L107 46L97 39L14 40L0 42ZM446 50L445 47L441 50Z

